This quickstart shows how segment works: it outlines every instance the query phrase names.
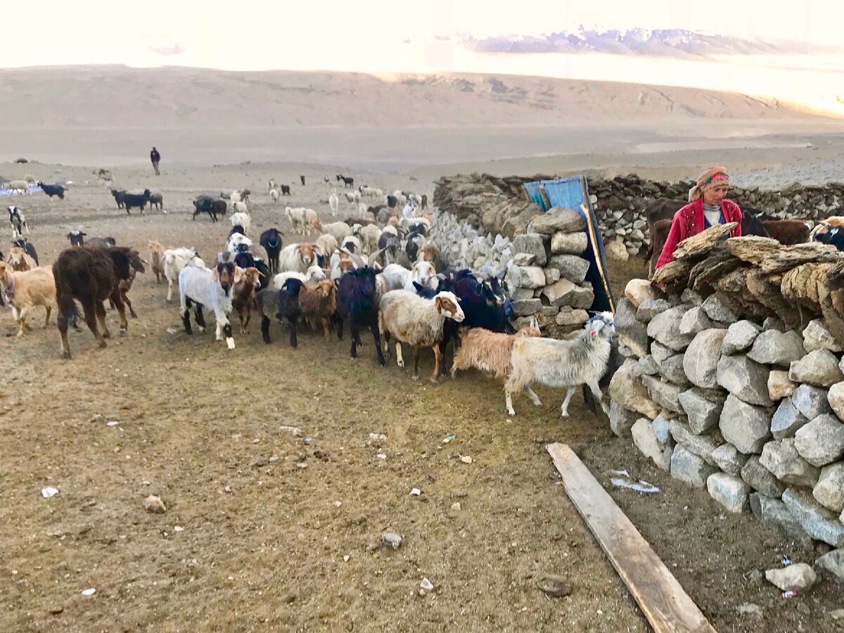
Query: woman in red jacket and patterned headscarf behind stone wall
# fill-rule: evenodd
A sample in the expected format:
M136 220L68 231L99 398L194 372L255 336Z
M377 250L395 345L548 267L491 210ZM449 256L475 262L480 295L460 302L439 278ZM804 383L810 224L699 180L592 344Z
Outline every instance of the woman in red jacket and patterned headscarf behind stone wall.
M655 269L674 262L677 245L711 225L738 222L730 231L730 237L741 236L741 209L738 204L726 199L729 180L727 168L721 165L711 165L701 171L697 184L689 190L689 204L674 214L668 239Z

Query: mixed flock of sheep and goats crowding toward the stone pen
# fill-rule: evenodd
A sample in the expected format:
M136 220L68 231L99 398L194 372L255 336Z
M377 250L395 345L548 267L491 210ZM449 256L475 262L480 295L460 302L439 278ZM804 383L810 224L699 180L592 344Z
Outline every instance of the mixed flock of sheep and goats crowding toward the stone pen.
M342 179L344 184L353 181L345 176ZM227 201L220 197L211 198L211 202L216 214L233 212L229 217L231 229L221 236L222 249L210 267L193 248L165 249L159 241L149 241L146 262L137 251L117 246L111 238L85 241L80 231L68 234L72 246L51 268L40 267L26 252L28 242L24 239L23 247L16 246L8 261L0 261L0 289L19 323L18 335L30 329L26 317L35 306L46 308L46 327L52 306L57 305L66 357L70 356L68 323L78 327L75 321L82 313L100 346L105 347L109 332L103 302L111 300L120 312L121 335L125 335L125 306L134 316L127 293L146 264L155 274L156 283L167 284L167 301L172 300L178 287L185 332L192 333L192 311L193 322L200 330L206 326L203 310L214 312L216 338L225 339L229 349L235 348L232 314L237 315L240 333L245 334L254 311L260 317L262 338L267 344L271 342L272 322L283 323L294 348L303 322L322 327L326 338L333 331L343 338L344 327L348 328L353 359L357 358L361 330L369 329L381 365L385 365L385 354L390 355L392 343L399 366L404 366L403 344L413 349L414 380L419 379L421 350L432 349L435 363L431 381L436 383L445 365L447 346L453 342L452 377L458 370L474 367L505 378L506 409L511 415L515 414L512 393L524 391L534 404L541 404L530 388L534 382L567 388L563 416L580 385L589 387L604 411L608 410L598 381L609 363L614 338L612 314L592 317L571 340L541 338L535 322L513 332L502 279L484 279L468 269L446 268L439 248L428 239L434 219L421 213L427 206L425 196L398 191L384 196L381 190L359 187L344 192L350 208L354 208L354 217L330 223L322 222L313 209L287 207L285 217L302 240L283 246L284 233L273 227L259 237L261 253L250 237L250 192L223 193ZM115 199L124 205L149 202L149 190L131 195L143 199L127 200L118 195ZM273 203L282 195L273 181L268 183L268 195ZM357 205L363 205L363 197L379 204L361 208ZM194 201L196 214L210 209L206 198L210 197L200 196ZM336 216L337 192L329 196L329 207ZM9 219L14 236L28 230L23 213L14 205L9 207ZM306 241L310 235L313 241Z

